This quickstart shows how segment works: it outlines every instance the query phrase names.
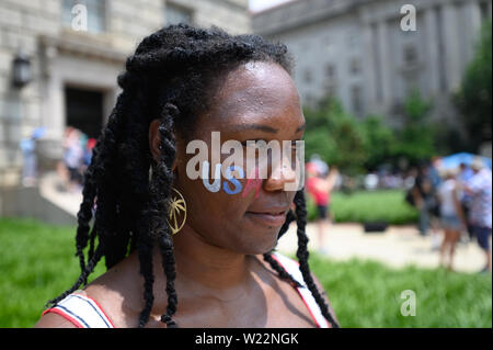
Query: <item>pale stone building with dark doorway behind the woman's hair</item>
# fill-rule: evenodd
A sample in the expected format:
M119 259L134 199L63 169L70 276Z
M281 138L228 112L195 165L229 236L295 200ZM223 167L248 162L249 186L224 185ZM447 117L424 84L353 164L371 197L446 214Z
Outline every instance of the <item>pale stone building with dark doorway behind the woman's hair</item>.
M0 185L19 181L20 140L61 157L64 131L98 136L118 94L125 58L170 23L251 32L248 0L0 0Z

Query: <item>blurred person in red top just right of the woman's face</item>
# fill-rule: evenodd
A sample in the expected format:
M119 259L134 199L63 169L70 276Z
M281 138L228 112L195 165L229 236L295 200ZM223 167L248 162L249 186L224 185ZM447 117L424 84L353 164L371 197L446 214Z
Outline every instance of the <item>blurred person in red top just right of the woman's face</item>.
M321 253L325 255L328 251L324 246L324 233L328 232L330 225L331 192L334 188L339 171L335 167L332 167L329 173L324 176L323 170L319 169L316 163L308 163L307 172L307 191L312 196L318 212L319 249Z

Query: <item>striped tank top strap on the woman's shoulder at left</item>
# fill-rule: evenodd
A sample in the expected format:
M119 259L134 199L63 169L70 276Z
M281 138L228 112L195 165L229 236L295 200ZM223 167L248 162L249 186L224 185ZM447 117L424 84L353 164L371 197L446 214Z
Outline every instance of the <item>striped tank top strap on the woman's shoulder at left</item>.
M58 314L78 328L115 328L93 298L78 293L69 294L43 315L47 313Z

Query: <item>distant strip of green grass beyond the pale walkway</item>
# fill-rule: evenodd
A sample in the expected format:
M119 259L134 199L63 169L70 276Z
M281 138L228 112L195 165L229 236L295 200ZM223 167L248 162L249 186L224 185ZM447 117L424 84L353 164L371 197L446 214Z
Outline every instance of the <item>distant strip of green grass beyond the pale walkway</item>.
M404 201L399 190L356 191L352 194L334 192L331 213L336 223L387 222L390 225L416 223L419 213ZM307 195L308 219L317 217L317 208Z

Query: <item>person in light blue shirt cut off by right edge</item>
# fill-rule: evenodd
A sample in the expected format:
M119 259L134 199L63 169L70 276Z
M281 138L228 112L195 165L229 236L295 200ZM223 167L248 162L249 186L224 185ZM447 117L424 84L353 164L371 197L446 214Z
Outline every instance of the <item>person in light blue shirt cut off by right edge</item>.
M491 246L490 236L492 229L492 177L481 158L475 158L471 163L474 176L463 188L471 196L471 207L469 210L469 223L478 244L484 251L486 264L481 272L491 272Z

